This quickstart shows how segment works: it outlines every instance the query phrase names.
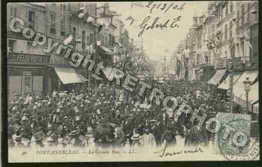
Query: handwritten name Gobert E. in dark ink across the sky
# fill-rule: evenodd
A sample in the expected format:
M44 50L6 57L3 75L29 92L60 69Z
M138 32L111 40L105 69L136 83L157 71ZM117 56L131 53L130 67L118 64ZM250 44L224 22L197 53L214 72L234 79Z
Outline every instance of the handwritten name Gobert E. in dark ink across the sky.
M169 22L171 22L170 19L168 19L164 24L162 24L162 23L158 23L160 17L157 17L157 18L155 18L153 23L149 26L147 24L147 22L150 20L150 18L151 18L150 16L147 16L143 20L142 24L138 26L142 29L142 31L138 34L139 37L141 37L143 35L145 30L154 29L154 28L168 28L168 27L175 28L175 27L179 27L179 25L175 24L175 23L177 23L181 20L181 16L178 16L177 18L173 19L173 22L169 25Z

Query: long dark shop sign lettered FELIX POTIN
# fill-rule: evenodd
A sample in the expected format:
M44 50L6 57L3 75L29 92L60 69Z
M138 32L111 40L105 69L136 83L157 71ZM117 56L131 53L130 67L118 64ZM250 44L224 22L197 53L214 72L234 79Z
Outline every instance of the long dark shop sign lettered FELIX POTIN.
M24 53L9 53L8 61L49 63L50 56Z

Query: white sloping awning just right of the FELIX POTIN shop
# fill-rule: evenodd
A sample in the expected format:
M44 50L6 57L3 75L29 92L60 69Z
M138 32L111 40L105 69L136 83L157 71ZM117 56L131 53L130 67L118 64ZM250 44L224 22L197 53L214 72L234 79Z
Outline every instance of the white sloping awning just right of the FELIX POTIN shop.
M81 83L81 79L72 67L54 67L63 84Z

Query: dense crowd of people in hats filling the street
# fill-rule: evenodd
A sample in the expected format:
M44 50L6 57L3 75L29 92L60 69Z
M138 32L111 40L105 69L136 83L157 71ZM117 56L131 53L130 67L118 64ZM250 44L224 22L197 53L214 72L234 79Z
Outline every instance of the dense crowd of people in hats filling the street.
M34 97L16 95L8 104L9 147L149 148L176 145L177 136L185 139L185 146L207 146L214 139L204 125L198 126L199 120L189 121L192 113L182 113L178 118L174 113L187 103L193 110L205 109L207 121L227 111L225 93L183 80L147 82L177 98L179 105L173 114L135 93L130 93L127 101L120 100L119 88L109 84Z

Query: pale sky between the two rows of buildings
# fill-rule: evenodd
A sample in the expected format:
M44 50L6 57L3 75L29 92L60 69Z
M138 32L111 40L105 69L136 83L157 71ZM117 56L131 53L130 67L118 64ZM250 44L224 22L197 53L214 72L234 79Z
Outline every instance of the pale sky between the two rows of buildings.
M182 4L185 4L182 11L173 10L174 5L180 7ZM148 5L147 2L143 3ZM143 38L144 48L147 55L149 55L152 60L160 60L164 56L169 56L174 53L176 47L179 44L179 41L186 37L186 34L189 32L189 29L193 24L193 15L196 14L200 16L203 12L207 11L207 2L166 2L167 9L171 4L174 4L166 13L165 10L160 10L163 7L165 2L154 2L157 6L162 4L160 8L156 9L157 6L150 13L151 8L147 7L133 7L131 8L131 3L129 2L112 2L109 3L111 10L121 14L121 20L124 23L124 28L128 30L129 38L134 38L135 42L141 44L141 38ZM150 6L152 7L152 5ZM132 16L135 21L130 25L131 21L126 21L126 19ZM153 23L155 18L159 17L159 23L165 23L170 19L169 28L154 28L144 32L142 37L138 37L139 32L142 30L139 25L142 24L143 20L150 16L150 20L147 22L149 25ZM178 28L170 28L170 25L174 18L181 16L181 21L178 22ZM137 27L139 26L139 27ZM169 52L165 52L165 49L168 49Z

